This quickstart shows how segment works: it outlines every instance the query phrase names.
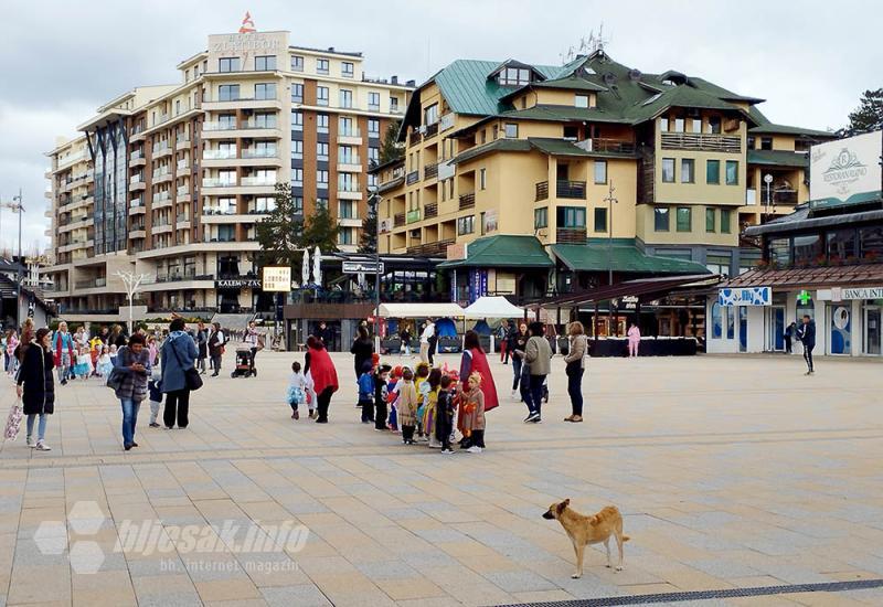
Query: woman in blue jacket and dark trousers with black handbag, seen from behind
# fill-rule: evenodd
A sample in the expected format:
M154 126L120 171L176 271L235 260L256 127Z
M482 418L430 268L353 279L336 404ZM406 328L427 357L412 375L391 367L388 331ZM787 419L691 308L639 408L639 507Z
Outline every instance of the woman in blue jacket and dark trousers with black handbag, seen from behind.
M162 392L166 394L162 420L169 430L174 427L175 419L180 429L188 426L190 392L202 385L200 373L193 365L199 351L184 327L183 319L172 320L169 324L169 337L160 348Z

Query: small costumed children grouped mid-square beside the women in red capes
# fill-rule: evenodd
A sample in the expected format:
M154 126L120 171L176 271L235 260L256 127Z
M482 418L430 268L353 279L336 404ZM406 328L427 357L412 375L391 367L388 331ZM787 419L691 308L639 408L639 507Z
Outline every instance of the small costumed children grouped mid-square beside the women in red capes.
M453 454L456 430L462 438L459 446L472 454L485 449L485 396L479 373L460 382L456 371L430 369L427 363L409 366L381 364L374 354L359 375L359 403L363 424L374 424L376 432L401 433L402 443L425 441ZM316 394L300 363L291 365L286 400L291 418L298 419L298 406L307 404L315 417Z

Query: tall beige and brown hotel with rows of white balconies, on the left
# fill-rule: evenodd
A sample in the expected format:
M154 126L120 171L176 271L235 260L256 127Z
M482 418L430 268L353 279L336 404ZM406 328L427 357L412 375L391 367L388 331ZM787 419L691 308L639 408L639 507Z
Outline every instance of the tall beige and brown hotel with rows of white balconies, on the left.
M134 88L49 152L51 294L68 318L125 302L116 273L148 276L143 313L260 307L255 223L289 183L354 251L384 130L413 83L371 79L361 53L289 45L288 32L209 36L175 85ZM86 318L88 317L88 318Z

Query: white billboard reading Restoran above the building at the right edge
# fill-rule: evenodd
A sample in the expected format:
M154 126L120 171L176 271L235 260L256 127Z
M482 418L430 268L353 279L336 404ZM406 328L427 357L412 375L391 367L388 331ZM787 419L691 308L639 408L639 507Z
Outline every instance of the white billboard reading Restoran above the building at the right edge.
M847 202L880 190L880 131L812 146L809 155L811 200Z

